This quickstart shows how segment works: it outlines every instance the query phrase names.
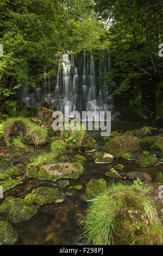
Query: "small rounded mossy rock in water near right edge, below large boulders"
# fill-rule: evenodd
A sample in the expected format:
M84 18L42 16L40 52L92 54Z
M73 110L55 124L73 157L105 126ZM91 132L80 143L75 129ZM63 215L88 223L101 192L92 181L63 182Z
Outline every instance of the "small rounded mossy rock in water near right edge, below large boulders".
M140 167L154 166L158 164L158 159L156 156L143 154L137 157L135 163Z

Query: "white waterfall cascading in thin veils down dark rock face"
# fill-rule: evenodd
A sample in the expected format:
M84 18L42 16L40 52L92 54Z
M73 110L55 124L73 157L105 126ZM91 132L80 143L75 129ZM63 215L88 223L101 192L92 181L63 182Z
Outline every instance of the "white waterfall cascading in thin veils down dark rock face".
M40 106L47 101L62 113L65 113L65 107L69 107L70 112L113 112L111 87L103 80L103 74L110 70L110 57L101 55L97 61L84 51L83 61L77 68L73 54L71 57L64 54L58 65L57 81L52 81L45 69L43 84L40 83L40 74L37 74L39 88L31 92L22 84L18 99L24 101L27 107Z

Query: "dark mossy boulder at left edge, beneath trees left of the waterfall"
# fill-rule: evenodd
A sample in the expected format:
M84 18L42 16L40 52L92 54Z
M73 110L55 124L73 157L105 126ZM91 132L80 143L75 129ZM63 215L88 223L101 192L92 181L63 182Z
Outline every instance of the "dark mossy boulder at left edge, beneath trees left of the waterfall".
M1 111L9 117L28 117L28 109L26 104L21 101L7 100L3 103Z

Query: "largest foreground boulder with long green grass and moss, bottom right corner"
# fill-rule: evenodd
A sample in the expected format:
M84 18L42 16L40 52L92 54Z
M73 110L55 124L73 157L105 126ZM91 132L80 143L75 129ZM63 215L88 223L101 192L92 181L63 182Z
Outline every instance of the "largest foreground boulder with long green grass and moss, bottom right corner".
M87 245L161 245L163 228L143 185L105 188L79 220Z

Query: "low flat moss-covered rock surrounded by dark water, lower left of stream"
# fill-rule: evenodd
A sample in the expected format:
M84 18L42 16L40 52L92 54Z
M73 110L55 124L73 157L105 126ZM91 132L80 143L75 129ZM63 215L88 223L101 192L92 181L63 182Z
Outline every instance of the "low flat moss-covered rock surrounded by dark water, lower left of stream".
M64 198L60 191L53 187L39 187L33 190L32 193L27 194L25 200L32 204L51 204L53 202L61 202Z

